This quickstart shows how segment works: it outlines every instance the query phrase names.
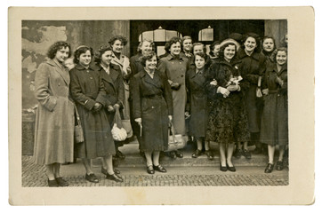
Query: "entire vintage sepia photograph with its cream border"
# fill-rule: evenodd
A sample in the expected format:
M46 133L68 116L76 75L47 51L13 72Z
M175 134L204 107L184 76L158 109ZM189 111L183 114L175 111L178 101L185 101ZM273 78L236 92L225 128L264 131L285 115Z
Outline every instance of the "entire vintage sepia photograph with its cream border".
M13 205L39 204L51 192L111 191L115 201L89 203L187 204L184 191L218 198L237 188L239 198L250 192L244 204L313 201L314 154L301 171L296 153L314 153L314 97L301 108L298 87L312 83L314 69L306 79L294 69L297 42L313 35L310 8L48 9L9 10L9 88L19 85L9 127L13 118L21 127L9 133ZM307 23L294 24L300 12ZM314 39L307 44L309 58ZM299 110L305 120L294 117ZM181 196L168 200L167 190ZM286 196L294 191L303 193Z

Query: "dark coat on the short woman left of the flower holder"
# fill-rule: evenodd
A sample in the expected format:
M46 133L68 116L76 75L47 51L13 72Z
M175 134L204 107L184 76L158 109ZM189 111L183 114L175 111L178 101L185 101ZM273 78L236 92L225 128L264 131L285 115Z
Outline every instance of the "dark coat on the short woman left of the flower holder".
M205 137L208 122L207 93L205 91L206 73L196 74L196 68L189 69L186 75L188 103L186 111L189 112L189 134L194 137Z

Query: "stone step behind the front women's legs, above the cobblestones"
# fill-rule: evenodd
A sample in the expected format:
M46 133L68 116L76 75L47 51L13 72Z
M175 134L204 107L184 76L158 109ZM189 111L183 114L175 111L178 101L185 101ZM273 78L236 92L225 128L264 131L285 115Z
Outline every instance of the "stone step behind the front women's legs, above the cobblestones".
M209 161L206 155L201 155L198 158L192 158L191 154L195 150L195 146L187 145L184 149L181 150L183 154L183 158L172 159L164 154L160 155L160 162L165 167L201 167L201 166L219 166L220 163L220 155L219 155L219 146L217 143L211 143L211 149L213 150L214 159L213 161ZM124 160L115 161L115 165L117 167L142 167L142 165L146 165L145 159L141 157L139 154L139 144L134 141L130 144L125 144L125 146L119 147L119 150L125 154ZM249 150L254 150L254 146L250 146ZM278 153L278 152L277 152ZM252 159L247 160L244 156L237 159L233 157L233 163L235 166L266 166L268 163L268 155L267 154L252 154ZM92 161L93 167L101 167L101 159L93 159Z

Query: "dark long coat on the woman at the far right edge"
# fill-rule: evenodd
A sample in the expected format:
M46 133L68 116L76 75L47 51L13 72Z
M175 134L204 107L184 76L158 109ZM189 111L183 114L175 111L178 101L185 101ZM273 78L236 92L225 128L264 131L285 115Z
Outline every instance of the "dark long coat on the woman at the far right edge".
M276 83L277 77L283 80L283 86ZM269 145L286 145L288 143L287 65L278 72L276 63L270 63L262 88L269 89L269 94L263 97L261 142Z

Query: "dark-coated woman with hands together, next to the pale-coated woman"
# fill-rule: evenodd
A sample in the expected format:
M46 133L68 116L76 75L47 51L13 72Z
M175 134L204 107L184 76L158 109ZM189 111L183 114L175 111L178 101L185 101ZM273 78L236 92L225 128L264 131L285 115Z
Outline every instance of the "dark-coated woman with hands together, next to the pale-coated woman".
M82 158L86 180L99 182L89 159L102 157L108 166L106 178L122 182L122 177L117 176L113 170L112 154L116 151L109 120L103 109L106 106L106 92L101 76L90 66L92 58L92 48L78 47L74 54L76 67L70 70L70 91L76 102L85 137L85 142L76 146L76 156Z

